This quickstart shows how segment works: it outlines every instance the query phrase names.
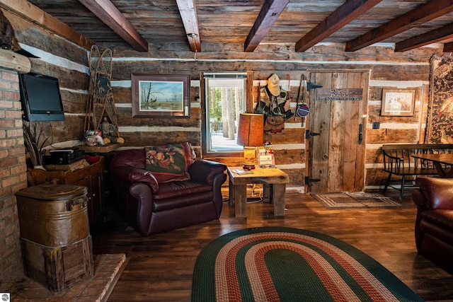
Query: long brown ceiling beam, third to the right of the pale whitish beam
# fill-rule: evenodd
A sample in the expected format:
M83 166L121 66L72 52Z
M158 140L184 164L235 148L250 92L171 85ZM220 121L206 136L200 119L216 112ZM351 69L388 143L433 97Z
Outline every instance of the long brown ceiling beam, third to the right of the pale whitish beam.
M453 0L431 0L408 13L394 18L386 24L374 28L374 30L346 42L345 51L355 52L376 42L385 40L391 36L403 33L420 24L426 23L453 11Z

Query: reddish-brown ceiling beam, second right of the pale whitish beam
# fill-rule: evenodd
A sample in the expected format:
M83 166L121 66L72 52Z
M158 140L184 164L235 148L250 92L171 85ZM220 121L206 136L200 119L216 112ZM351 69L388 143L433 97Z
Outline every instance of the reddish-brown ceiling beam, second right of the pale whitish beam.
M296 52L304 52L379 4L382 0L348 0L333 11L296 43Z

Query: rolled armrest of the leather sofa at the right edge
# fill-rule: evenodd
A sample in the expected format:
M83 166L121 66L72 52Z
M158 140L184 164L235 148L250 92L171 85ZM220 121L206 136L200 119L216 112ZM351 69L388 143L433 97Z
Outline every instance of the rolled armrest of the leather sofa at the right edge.
M427 209L453 209L452 178L418 177L415 185L420 187Z

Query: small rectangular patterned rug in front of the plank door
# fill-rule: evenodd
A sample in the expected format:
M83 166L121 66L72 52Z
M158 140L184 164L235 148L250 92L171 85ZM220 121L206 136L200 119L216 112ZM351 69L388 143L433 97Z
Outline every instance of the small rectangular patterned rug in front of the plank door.
M390 197L379 193L367 192L339 192L339 193L311 193L327 209L353 208L401 208L404 204L395 202Z

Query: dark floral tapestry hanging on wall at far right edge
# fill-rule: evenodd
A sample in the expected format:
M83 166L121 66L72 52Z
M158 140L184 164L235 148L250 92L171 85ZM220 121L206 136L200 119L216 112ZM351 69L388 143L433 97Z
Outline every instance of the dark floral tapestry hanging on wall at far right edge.
M430 66L425 144L453 144L453 57L433 55Z

